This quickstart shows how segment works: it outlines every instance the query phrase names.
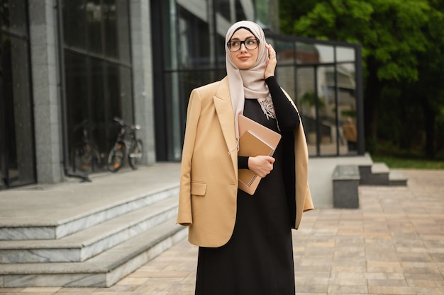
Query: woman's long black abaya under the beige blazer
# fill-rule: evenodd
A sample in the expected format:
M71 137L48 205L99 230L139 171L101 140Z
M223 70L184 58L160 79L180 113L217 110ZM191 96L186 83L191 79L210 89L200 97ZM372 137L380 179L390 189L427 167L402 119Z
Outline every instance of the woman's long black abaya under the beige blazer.
M244 115L279 132L255 99L245 100ZM299 120L299 118L298 118ZM255 195L238 190L238 211L230 241L199 248L196 295L294 295L292 221L282 177L279 143L272 172Z

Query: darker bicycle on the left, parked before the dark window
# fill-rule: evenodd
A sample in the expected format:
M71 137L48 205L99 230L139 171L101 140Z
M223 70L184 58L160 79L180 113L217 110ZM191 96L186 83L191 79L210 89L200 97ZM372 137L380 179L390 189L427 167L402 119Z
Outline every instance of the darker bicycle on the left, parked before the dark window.
M96 168L101 165L103 155L99 153L99 149L97 149L96 144L94 144L89 136L88 120L83 120L82 123L74 127L74 132L78 129L82 129L82 139L72 145L72 170L74 172L77 169L94 172Z

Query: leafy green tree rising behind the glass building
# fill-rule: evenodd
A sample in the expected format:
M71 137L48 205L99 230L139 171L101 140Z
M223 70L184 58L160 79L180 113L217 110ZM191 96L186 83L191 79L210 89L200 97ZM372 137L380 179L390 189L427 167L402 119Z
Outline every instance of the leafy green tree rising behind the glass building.
M435 47L443 34L439 13L443 6L440 0L281 0L281 31L291 35L316 37L328 40L355 42L362 45L365 69L365 134L370 141L377 137L378 112L384 105L379 100L384 88L407 85L417 87L428 83L421 79L423 69L427 71L424 59L441 52ZM433 3L431 3L433 2ZM301 11L301 9L308 9ZM296 18L289 16L294 12ZM438 57L433 62L439 62ZM443 67L440 67L442 72ZM424 76L425 77L425 76ZM442 81L442 80L441 80ZM435 98L438 94L433 95ZM402 99L402 95L399 99ZM421 96L423 97L423 96ZM435 110L435 105L423 105ZM408 112L406 112L408 113ZM415 118L409 118L415 120ZM432 124L432 123L430 123Z

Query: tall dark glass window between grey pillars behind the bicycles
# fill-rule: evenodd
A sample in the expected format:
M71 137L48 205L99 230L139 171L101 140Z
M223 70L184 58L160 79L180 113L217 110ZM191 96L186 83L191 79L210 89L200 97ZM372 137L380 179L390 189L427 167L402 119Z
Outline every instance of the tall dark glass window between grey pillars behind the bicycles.
M71 146L82 139L79 127L87 122L90 140L106 156L118 129L113 117L133 123L128 0L66 2L85 16L74 26L64 22L70 36L65 38L65 77ZM69 7L64 20L72 18ZM77 28L85 28L84 33ZM78 35L86 35L86 42Z

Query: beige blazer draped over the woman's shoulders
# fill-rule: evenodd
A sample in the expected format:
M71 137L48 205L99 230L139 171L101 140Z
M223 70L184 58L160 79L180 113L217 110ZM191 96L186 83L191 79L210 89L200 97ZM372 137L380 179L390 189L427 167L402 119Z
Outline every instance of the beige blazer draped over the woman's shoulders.
M194 245L220 247L233 233L238 194L234 130L227 77L192 91L182 151L177 223L189 226L188 239ZM313 209L307 181L309 156L302 124L294 131L294 139L294 228L298 229L302 213Z

